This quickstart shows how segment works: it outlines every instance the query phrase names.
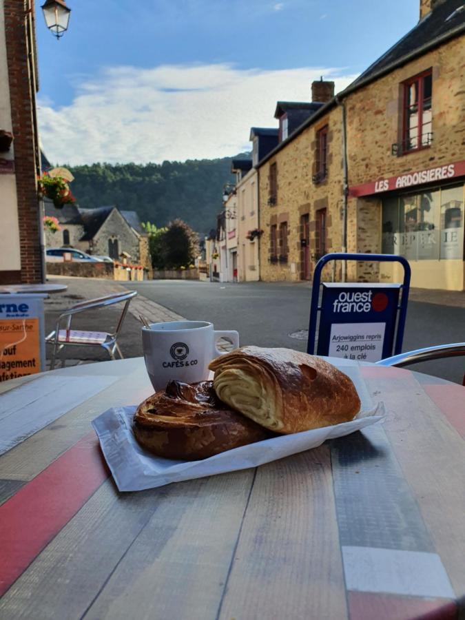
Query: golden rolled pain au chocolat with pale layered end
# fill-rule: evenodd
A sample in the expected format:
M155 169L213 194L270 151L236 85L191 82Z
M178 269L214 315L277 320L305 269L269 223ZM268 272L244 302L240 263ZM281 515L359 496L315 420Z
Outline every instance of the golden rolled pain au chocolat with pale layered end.
M300 351L242 347L209 368L220 400L276 433L349 422L360 410L347 375Z

